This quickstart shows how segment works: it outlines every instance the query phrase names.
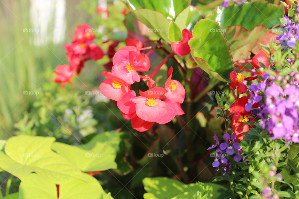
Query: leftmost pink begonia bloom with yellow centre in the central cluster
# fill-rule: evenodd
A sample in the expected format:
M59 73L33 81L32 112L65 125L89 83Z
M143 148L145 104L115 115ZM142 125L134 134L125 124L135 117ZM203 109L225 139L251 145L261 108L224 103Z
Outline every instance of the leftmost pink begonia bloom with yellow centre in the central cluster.
M107 77L100 86L101 93L109 99L118 101L129 91L129 85L126 81L113 76L111 72L104 71L102 75Z

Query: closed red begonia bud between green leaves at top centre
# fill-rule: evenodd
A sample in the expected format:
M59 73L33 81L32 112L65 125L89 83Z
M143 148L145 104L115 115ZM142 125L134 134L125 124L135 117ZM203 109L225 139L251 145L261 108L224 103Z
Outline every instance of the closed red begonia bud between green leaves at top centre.
M182 35L183 35L183 41L173 42L171 44L171 49L178 56L183 56L190 53L190 46L188 44L188 41L192 38L192 34L188 29L184 29L182 31Z

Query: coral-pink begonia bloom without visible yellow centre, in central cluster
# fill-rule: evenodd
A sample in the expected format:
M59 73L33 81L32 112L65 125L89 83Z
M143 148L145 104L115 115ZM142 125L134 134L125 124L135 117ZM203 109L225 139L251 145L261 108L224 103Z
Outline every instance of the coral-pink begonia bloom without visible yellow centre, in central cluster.
M132 114L136 112L135 103L131 99L136 97L134 90L129 90L120 100L117 101L117 107L125 114Z

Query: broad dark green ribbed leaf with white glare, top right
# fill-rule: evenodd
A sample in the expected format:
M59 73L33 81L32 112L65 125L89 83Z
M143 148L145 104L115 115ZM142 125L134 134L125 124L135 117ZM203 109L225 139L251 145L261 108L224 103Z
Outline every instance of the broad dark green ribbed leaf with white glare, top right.
M268 2L244 2L229 7L217 7L214 14L207 16L215 20L224 29L226 26L240 25L247 30L253 30L257 25L272 28L280 23L283 15L282 6Z

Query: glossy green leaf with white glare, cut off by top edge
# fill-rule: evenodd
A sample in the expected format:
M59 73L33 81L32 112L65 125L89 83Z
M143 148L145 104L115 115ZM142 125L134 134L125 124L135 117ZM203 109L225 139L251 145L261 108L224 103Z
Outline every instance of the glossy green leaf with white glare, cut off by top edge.
M124 2L126 2L127 6L130 7L132 11L136 11L140 8L148 8L150 10L162 13L170 20L174 20L184 8L190 5L188 0L125 0Z

